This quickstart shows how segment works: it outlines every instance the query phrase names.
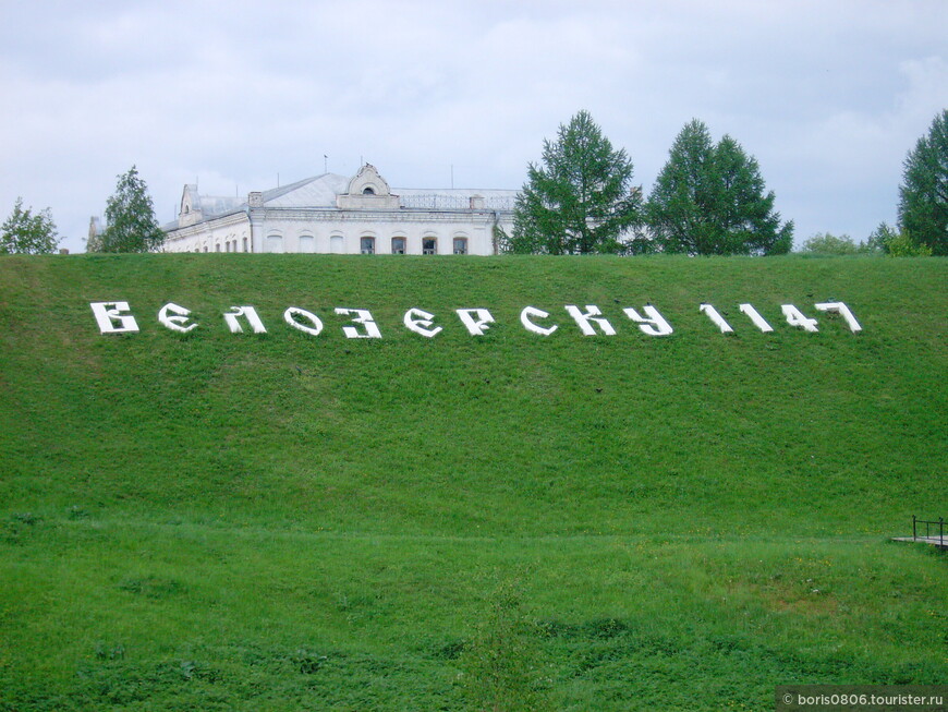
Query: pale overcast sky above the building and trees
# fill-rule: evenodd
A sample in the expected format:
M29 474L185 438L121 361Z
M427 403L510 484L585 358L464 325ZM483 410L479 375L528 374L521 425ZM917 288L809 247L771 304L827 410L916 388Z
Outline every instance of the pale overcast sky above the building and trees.
M651 192L692 118L759 162L797 242L895 221L948 106L948 0L0 0L0 219L84 251L133 164L246 196L365 160L392 186L523 184L588 110Z

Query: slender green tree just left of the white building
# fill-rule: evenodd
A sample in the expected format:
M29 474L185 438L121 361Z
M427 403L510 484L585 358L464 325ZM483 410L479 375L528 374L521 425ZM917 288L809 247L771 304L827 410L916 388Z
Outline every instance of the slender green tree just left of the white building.
M145 181L132 168L119 176L116 193L106 203L102 252L151 252L165 242Z

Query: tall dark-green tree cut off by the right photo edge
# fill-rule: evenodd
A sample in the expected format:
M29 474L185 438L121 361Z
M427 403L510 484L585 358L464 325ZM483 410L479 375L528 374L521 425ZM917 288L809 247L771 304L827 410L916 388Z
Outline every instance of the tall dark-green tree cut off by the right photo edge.
M914 245L948 255L948 109L935 117L906 158L899 226Z

